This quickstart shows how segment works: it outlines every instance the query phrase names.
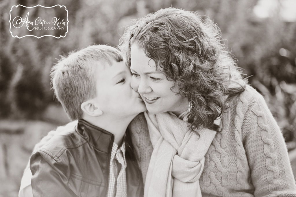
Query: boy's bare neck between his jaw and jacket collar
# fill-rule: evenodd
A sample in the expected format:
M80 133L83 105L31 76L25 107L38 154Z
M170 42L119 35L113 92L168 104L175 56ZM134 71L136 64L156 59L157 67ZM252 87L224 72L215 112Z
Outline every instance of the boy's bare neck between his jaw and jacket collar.
M99 128L102 128L114 135L114 142L120 146L123 141L124 134L126 133L126 129L128 127L128 124L132 121L129 119L121 119L121 120L114 120L112 121L106 120L102 117L90 117L90 116L84 116L84 120L88 121L89 123L93 124L94 126L97 126Z

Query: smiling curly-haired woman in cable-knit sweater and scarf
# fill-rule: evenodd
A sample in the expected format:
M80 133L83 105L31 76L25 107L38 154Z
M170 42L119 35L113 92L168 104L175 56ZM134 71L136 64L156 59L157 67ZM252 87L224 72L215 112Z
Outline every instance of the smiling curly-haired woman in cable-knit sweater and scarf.
M167 141L179 155L183 142L176 145L174 140L179 137L172 142L166 135L176 135L187 126L195 136L209 136L205 141L211 140L211 131L217 131L199 180L202 196L296 196L281 131L263 97L242 79L220 41L220 30L213 22L175 8L136 20L121 39L119 47L131 67L132 87L148 110L145 118L139 115L131 124L146 180L144 196L158 195L155 190L165 190L167 195L171 185L175 196L174 181L192 181L190 173L187 179L178 174L174 165L184 161L178 163L174 156L165 173L174 178L166 180L165 188L159 187L158 180L162 159L167 162L166 150L161 152L160 144ZM192 152L199 152L201 140L191 143L196 147Z

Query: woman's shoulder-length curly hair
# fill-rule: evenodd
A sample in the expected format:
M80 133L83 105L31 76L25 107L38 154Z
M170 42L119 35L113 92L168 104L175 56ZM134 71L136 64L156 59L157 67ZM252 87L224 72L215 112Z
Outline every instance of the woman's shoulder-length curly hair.
M193 131L218 131L214 120L227 108L225 95L244 91L246 84L221 41L221 31L210 19L170 7L134 20L118 47L131 66L131 45L137 44L157 71L175 82L171 89L192 101L188 123Z

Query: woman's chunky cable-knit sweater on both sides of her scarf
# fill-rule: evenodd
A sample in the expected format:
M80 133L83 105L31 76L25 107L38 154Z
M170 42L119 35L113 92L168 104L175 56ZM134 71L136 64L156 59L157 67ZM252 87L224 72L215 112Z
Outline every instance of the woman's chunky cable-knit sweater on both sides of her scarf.
M223 130L205 155L202 196L296 196L287 148L263 97L247 86L226 102L230 107L221 117ZM145 181L153 148L144 115L130 128Z

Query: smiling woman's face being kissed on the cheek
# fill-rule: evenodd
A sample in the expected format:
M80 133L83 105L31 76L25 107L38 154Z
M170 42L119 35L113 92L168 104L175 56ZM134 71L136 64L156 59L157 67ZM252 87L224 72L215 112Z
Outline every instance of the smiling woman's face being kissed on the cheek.
M156 71L155 61L147 57L144 50L136 44L131 47L131 87L139 92L152 114L173 112L180 115L188 108L186 98L171 91L174 82L168 81L165 75Z

